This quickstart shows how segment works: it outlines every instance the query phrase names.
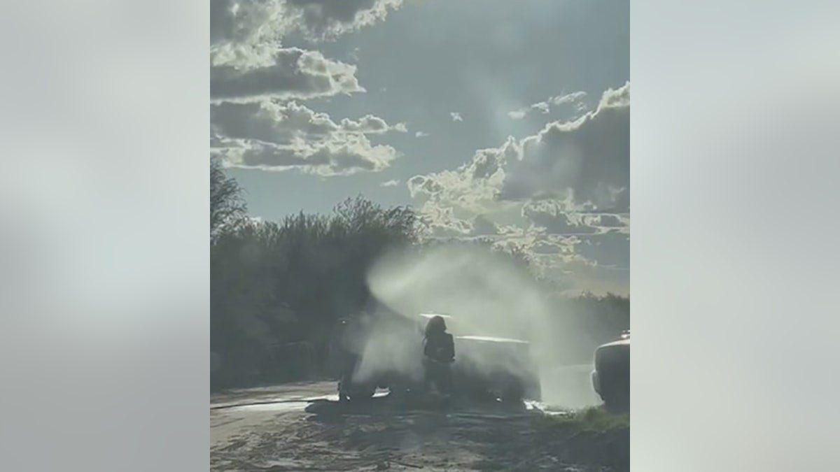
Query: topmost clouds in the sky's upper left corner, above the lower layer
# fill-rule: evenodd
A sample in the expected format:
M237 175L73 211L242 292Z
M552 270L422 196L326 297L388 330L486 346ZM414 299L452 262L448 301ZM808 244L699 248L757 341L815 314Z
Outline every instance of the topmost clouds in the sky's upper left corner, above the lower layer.
M283 48L295 31L323 39L385 18L402 0L211 0L211 100L305 99L365 92L355 66Z

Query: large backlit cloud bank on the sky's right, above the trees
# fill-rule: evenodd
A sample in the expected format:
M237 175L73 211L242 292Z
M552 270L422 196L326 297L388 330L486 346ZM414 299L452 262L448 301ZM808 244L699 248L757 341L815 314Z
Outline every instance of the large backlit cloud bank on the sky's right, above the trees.
M598 108L581 118L509 138L455 170L407 184L433 234L492 235L578 288L596 290L606 281L604 290L621 291L622 254L629 254L629 83L604 92Z

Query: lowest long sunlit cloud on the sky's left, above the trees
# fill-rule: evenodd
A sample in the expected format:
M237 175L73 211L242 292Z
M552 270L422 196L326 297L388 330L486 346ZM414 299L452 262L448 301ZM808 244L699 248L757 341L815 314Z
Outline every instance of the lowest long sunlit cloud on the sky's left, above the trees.
M214 152L226 165L261 170L298 169L321 176L383 170L396 149L372 145L366 134L405 132L367 115L335 123L297 102L221 103L211 106Z

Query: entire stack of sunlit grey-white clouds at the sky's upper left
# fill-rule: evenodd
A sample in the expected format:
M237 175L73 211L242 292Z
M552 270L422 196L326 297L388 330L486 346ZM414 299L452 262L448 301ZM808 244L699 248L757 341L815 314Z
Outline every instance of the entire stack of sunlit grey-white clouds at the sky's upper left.
M367 135L407 133L368 115L333 121L295 100L365 92L356 67L282 47L300 32L335 39L386 18L402 0L211 0L211 154L225 165L322 176L383 170L396 149Z

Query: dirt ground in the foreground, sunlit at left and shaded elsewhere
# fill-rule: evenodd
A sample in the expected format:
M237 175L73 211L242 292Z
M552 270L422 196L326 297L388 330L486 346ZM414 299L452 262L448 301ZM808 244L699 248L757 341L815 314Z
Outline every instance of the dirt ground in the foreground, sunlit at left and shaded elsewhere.
M211 399L212 471L629 470L629 429L545 427L542 412L346 406L332 383Z

